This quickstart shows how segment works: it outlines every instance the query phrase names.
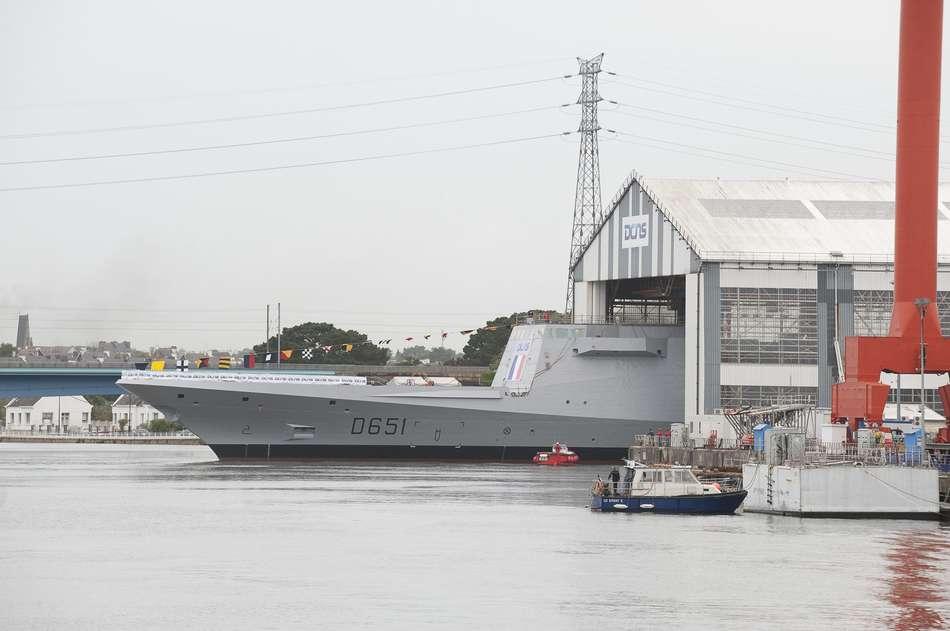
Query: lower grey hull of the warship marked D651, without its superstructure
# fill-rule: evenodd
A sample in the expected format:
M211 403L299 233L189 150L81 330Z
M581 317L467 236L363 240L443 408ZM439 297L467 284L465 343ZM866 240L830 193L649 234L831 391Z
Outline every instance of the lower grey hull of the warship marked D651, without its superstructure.
M274 392L122 385L197 434L222 460L530 462L539 450L561 442L592 462L623 458L633 436L658 427L646 419L538 413L523 399L492 396L490 388L291 386ZM472 398L473 392L479 396Z

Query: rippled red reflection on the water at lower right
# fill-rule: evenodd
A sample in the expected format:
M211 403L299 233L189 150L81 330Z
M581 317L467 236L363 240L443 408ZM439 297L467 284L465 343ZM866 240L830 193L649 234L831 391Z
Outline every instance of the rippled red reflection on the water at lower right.
M950 606L946 582L950 532L905 531L882 542L889 578L886 598L894 607L889 626L897 631L945 629Z

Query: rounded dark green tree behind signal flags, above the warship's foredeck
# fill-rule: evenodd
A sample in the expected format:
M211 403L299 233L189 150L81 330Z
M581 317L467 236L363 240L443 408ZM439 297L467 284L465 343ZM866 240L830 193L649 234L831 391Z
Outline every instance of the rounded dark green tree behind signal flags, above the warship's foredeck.
M304 322L296 326L285 327L280 333L280 345L286 349L293 349L293 357L289 360L295 364L385 364L389 359L389 349L373 343L367 343L365 334L359 331L338 329L328 322ZM347 353L340 345L352 344L353 349ZM325 352L319 347L333 346L333 350ZM269 340L271 352L277 352L277 336ZM268 345L257 344L255 353L263 353ZM300 353L303 349L316 349L310 359L305 359Z

